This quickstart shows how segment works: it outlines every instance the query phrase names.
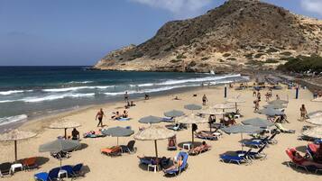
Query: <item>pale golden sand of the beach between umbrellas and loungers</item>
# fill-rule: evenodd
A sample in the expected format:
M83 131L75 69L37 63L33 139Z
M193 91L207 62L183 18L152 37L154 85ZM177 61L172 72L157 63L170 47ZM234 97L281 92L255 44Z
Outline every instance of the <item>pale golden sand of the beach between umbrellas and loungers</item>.
M262 97L266 91L261 91ZM202 153L198 156L189 156L189 167L181 175L174 178L168 178L163 176L163 172L153 173L143 170L139 167L139 159L137 156L154 156L154 144L153 141L141 141L136 140L135 147L137 152L135 154L124 154L122 157L110 158L100 153L101 148L111 147L116 144L116 138L105 137L97 139L83 139L81 143L86 145L85 148L73 151L71 158L64 159L63 165L75 165L77 163L84 163L85 177L80 177L79 180L118 180L118 181L131 181L131 180L230 180L230 181L249 181L258 180L271 181L271 180L310 180L317 181L321 179L321 176L306 173L303 171L295 170L291 167L287 167L285 164L290 159L285 154L287 148L297 148L299 151L305 151L305 146L308 141L298 140L300 131L303 125L309 125L307 122L299 122L299 106L305 104L309 112L317 111L321 107L321 103L311 102L312 94L308 90L300 90L299 99L295 99L295 90L273 90L274 95L278 94L281 99L286 99L289 96L290 103L286 109L288 120L290 123L285 123L284 127L295 130L295 134L281 133L277 135L276 140L278 144L270 145L265 149L267 158L264 160L255 160L251 165L235 165L227 164L219 161L219 155L225 152L241 149L240 134L228 135L225 134L219 140L207 140L207 143L212 146L210 151ZM198 96L192 96L197 94ZM78 128L82 135L86 131L96 130L97 121L95 121L95 115L97 109L102 107L106 112L107 119L104 120L104 124L107 127L114 126L131 126L135 133L139 127L147 127L148 125L139 123L138 120L146 115L163 116L163 113L171 109L182 110L185 113L191 113L189 110L183 108L184 104L201 104L202 95L206 94L209 102L207 104L224 103L224 87L213 86L204 87L198 90L187 91L179 94L181 100L172 100L175 95L162 95L153 97L150 100L140 100L135 102L136 106L131 107L128 112L132 118L128 122L118 122L109 119L110 113L115 111L122 112L124 110L124 103L110 103L102 106L94 106L85 110L81 110L75 113L63 113L60 117L68 119L72 122L79 122L82 126ZM236 122L241 122L244 119L260 117L265 118L264 115L253 113L253 90L235 91L234 89L228 89L228 97L240 95L245 103L240 104L240 109L244 114L244 118L237 119ZM264 97L262 98L264 99ZM262 105L266 104L262 101ZM30 140L22 140L18 142L18 159L30 158L30 157L43 157L41 167L31 171L20 171L14 174L14 176L5 176L1 178L8 181L28 181L33 180L33 175L42 171L48 172L53 167L59 167L60 161L56 158L52 158L49 153L38 152L39 145L55 140L57 136L63 134L63 130L51 130L48 129L50 122L57 121L57 118L48 118L41 122L26 122L20 129L27 131L37 131L39 134L36 138ZM169 123L161 122L160 125L166 125ZM208 130L208 124L199 124L198 131ZM69 130L69 134L70 134ZM250 138L244 136L245 139ZM189 141L191 139L191 131L184 130L177 132L177 141ZM129 140L133 140L133 136L120 138L120 144L126 144ZM201 141L199 139L196 139ZM159 143L159 155L173 158L177 155L178 151L167 150L167 140L160 140ZM0 149L0 162L13 161L14 160L14 143L1 143Z

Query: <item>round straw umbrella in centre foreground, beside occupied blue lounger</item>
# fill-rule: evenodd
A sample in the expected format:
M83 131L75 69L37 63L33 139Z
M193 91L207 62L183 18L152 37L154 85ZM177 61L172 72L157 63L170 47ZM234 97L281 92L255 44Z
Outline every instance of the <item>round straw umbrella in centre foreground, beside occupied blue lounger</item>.
M175 131L170 131L161 126L152 125L149 128L139 131L134 135L135 140L154 140L155 156L158 158L157 140L169 139L176 135Z

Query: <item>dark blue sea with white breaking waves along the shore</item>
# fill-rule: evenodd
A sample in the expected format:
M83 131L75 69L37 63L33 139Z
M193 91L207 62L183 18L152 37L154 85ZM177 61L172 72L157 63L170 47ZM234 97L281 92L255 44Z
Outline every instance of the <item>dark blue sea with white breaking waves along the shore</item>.
M203 83L244 81L241 75L101 71L87 67L0 67L0 129L36 117L144 94L170 94Z

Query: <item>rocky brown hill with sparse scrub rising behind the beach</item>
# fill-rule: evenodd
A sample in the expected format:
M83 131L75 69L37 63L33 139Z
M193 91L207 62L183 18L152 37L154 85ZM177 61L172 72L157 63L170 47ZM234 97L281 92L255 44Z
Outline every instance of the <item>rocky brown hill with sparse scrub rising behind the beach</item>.
M322 53L322 21L258 0L229 0L196 18L165 23L152 39L115 50L94 68L243 71Z

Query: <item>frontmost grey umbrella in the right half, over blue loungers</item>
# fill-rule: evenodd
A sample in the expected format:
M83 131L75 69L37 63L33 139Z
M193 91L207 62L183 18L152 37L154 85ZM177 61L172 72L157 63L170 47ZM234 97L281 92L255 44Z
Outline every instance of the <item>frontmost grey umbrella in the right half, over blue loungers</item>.
M227 134L236 134L241 133L241 140L243 140L243 134L253 134L259 133L262 131L259 127L254 127L251 125L243 125L243 124L235 124L229 127L221 128L222 131L225 131ZM243 150L243 143L242 143L242 150Z

